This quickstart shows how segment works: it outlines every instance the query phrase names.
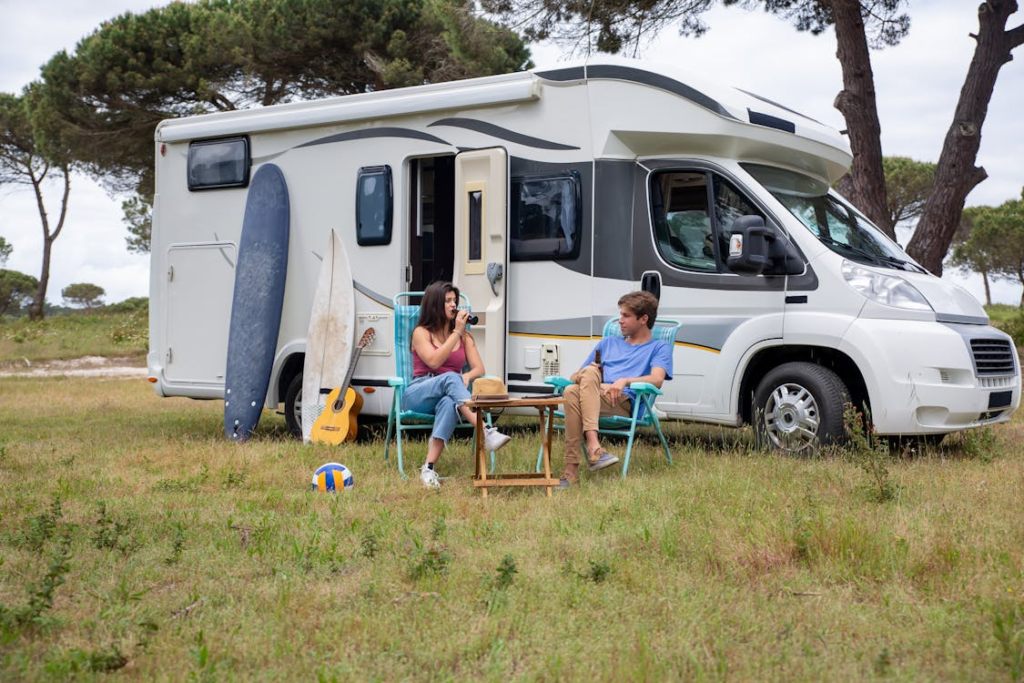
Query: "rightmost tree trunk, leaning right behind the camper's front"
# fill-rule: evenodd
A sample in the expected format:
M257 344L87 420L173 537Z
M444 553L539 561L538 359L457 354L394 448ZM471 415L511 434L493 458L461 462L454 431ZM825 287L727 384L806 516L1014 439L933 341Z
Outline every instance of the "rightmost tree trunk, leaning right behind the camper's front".
M949 251L967 196L988 177L985 169L974 163L999 69L1024 41L1024 26L1006 31L1007 20L1016 11L1015 0L987 0L978 7L974 57L942 144L932 194L907 246L907 253L936 275L942 274L942 259Z

